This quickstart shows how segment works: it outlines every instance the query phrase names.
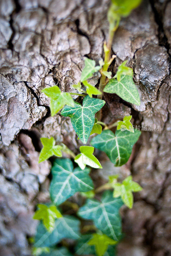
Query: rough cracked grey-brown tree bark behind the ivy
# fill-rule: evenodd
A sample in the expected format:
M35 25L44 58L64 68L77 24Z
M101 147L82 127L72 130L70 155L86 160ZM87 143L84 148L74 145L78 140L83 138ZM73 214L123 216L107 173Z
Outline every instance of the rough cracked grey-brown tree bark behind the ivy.
M75 153L79 142L68 118L50 117L41 89L57 84L74 91L84 56L97 63L108 35L109 0L0 1L0 255L30 255L27 237L37 221L35 204L49 199L50 162L38 164L41 136L54 136ZM132 114L136 125L160 125L143 131L127 164L115 168L101 157L95 185L109 173L129 174L144 188L132 210L122 210L125 238L118 256L171 255L171 2L144 1L123 19L112 45L111 70L125 59L134 69L141 105L104 94L103 121ZM93 82L97 84L98 74ZM100 155L101 154L101 155ZM106 161L104 160L106 159Z

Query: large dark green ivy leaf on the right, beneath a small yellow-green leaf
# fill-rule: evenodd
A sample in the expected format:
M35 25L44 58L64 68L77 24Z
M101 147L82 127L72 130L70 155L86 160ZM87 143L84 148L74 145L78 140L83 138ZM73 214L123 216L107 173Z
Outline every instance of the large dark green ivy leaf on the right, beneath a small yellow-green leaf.
M132 147L140 134L141 132L138 130L135 130L134 133L118 130L115 134L110 130L106 130L95 136L91 144L93 147L104 151L115 166L121 166L128 161Z

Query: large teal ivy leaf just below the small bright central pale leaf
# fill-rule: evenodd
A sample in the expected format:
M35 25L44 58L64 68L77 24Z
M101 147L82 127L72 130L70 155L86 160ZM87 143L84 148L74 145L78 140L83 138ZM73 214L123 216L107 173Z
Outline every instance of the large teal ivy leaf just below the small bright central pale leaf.
M93 181L89 176L90 168L84 171L73 167L71 159L56 159L52 167L50 196L54 204L59 205L76 192L93 189Z

